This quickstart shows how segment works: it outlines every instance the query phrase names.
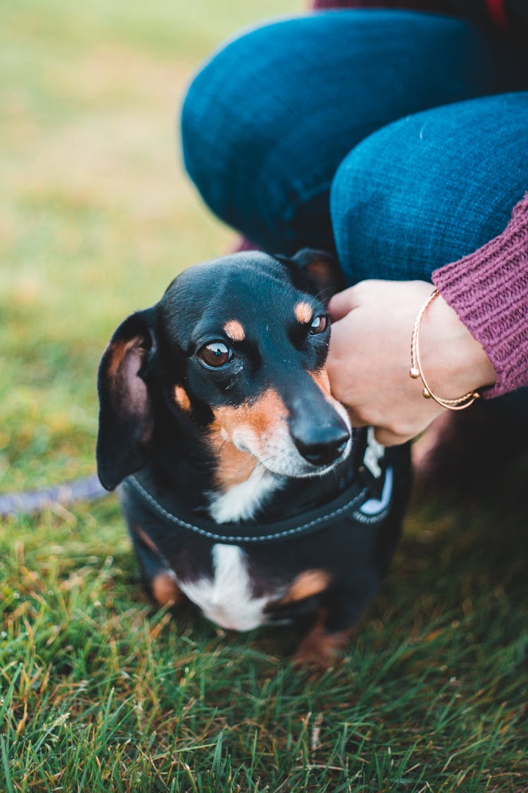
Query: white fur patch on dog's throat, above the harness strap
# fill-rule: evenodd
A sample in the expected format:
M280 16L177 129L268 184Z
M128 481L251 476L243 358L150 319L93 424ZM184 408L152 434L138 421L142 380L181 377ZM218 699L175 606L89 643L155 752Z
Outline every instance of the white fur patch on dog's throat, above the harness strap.
M281 485L264 465L256 465L251 476L225 493L212 496L209 513L216 523L250 520L261 504Z

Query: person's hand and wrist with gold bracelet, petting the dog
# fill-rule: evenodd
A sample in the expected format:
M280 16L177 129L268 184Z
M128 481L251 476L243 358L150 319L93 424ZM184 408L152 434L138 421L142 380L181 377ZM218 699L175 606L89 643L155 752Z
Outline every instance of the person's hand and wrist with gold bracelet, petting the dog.
M329 304L332 394L348 408L352 425L372 425L384 446L414 438L446 410L424 399L422 381L408 375L412 328L433 289L424 281L363 281ZM439 397L460 397L496 379L481 344L442 295L422 320L420 362Z

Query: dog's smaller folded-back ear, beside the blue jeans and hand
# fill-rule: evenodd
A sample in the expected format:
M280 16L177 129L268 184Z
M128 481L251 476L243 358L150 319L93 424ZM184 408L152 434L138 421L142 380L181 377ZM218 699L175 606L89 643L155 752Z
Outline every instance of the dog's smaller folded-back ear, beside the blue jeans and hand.
M332 295L346 286L339 262L326 251L302 248L290 259L276 258L290 268L296 286L318 297L325 305Z

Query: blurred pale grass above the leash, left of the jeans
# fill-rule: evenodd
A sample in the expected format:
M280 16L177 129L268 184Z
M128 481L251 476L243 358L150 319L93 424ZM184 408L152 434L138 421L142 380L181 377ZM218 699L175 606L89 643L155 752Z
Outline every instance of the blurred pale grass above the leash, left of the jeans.
M184 177L178 109L222 38L292 6L2 4L0 490L93 469L109 335L228 246Z

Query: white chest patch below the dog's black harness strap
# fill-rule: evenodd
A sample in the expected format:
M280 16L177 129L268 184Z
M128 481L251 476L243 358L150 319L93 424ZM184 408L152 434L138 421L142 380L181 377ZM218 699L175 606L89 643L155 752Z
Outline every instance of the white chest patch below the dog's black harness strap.
M231 630L252 630L266 621L269 597L254 598L247 558L238 546L217 543L212 548L213 577L178 585L211 622Z

